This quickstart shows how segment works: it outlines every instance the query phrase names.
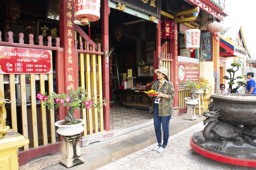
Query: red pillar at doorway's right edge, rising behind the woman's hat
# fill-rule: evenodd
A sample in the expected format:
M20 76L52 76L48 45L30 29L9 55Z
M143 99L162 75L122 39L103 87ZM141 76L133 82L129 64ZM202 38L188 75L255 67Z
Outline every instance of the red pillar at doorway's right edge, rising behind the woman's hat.
M154 52L154 70L159 68L159 56L161 56L161 20L158 19L156 29L156 52ZM157 74L154 74L154 80L157 80Z

